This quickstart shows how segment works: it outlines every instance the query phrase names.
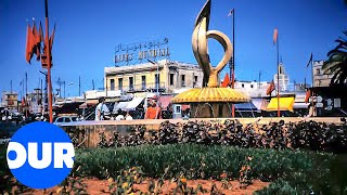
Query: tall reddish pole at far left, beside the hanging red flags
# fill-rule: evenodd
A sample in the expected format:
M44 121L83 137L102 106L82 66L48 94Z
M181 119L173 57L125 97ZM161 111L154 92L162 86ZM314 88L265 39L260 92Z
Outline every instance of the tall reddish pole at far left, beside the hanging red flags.
M48 82L48 105L49 105L49 116L50 122L53 122L53 108L52 108L52 84L51 84L51 47L49 40L49 20L48 20L48 0L44 0L44 10L46 10L46 49L47 49L47 82Z

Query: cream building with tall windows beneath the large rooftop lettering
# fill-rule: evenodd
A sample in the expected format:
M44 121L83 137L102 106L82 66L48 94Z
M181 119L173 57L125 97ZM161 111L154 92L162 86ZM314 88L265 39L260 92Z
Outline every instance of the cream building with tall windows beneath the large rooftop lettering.
M105 67L104 87L121 93L143 91L172 93L182 88L201 88L203 72L198 65L162 60L156 63Z

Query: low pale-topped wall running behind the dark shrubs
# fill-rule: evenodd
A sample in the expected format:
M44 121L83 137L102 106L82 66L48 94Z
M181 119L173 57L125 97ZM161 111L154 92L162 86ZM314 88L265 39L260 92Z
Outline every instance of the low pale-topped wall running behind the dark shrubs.
M278 122L280 120L284 120L285 123L287 122L299 122L299 121L309 121L313 120L317 122L326 122L326 123L342 123L340 118L338 117L314 117L314 118L303 118L303 117L275 117L275 118L192 118L189 120L193 121L210 121L210 122L224 122L226 120L239 120L241 123L270 123L270 122ZM170 119L169 122L177 123L181 122L184 123L189 120L183 119ZM113 136L114 132L118 132L120 134L128 134L130 132L130 128L134 126L144 126L146 130L158 130L160 123L163 121L167 121L167 119L139 119L139 120L102 120L102 121L77 121L77 122L68 122L60 125L66 132L70 132L74 134L73 139L78 140L78 143L82 143L86 147L95 147L100 142L100 133L104 132L106 139Z

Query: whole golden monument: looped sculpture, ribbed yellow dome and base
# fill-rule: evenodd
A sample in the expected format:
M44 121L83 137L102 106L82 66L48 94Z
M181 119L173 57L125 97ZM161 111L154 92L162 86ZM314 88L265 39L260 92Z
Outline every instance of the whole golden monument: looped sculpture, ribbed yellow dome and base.
M208 30L210 14L210 0L197 15L192 36L194 56L204 73L203 88L190 89L176 95L172 103L189 103L191 105L191 117L230 117L231 104L249 102L249 98L231 88L220 88L219 73L232 56L232 44L229 38L217 30ZM216 39L224 49L224 55L214 68L209 62L207 39Z

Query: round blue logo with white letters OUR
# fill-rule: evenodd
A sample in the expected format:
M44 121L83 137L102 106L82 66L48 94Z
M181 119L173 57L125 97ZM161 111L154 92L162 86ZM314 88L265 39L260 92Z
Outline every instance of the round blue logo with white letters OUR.
M50 188L69 174L74 145L65 131L49 122L33 122L18 129L8 146L12 174L31 188Z

